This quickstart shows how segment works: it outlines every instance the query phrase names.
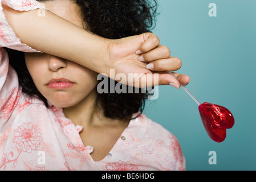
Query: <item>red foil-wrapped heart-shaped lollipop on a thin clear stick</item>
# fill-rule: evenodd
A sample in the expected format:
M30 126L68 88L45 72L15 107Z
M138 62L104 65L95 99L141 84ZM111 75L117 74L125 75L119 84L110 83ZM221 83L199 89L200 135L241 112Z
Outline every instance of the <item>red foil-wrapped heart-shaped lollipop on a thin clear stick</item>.
M172 72L170 75L174 76ZM176 78L176 76L174 76ZM196 97L184 86L181 87L199 105L198 110L209 137L215 142L223 142L226 138L226 129L231 129L234 125L234 117L226 107L211 104L209 102L200 103Z

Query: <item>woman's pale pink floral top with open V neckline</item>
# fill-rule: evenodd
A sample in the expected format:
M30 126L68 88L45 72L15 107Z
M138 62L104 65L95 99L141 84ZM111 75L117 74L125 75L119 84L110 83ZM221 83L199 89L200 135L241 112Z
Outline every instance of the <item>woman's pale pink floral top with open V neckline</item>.
M20 11L44 9L35 0L1 2ZM93 147L84 146L80 138L82 126L75 126L62 109L47 109L22 93L4 47L39 52L15 36L0 3L0 170L185 169L177 139L145 114L132 119L109 154L95 162Z

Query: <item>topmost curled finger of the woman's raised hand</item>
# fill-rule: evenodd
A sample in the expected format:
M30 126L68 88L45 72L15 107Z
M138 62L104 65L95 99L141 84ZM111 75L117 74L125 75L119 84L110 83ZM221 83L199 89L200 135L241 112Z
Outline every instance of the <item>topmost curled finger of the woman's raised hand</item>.
M147 53L159 46L160 40L155 34L144 33L141 34L141 36L143 38L143 44L141 44L139 50L136 51L137 54Z

